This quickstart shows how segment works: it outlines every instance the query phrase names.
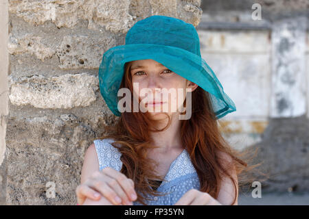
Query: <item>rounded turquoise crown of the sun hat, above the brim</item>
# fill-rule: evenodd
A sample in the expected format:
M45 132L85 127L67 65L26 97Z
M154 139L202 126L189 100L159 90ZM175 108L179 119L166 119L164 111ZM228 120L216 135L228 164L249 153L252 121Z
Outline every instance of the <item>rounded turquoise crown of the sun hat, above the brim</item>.
M177 18L153 15L137 21L126 34L126 44L161 44L179 47L201 57L195 27Z

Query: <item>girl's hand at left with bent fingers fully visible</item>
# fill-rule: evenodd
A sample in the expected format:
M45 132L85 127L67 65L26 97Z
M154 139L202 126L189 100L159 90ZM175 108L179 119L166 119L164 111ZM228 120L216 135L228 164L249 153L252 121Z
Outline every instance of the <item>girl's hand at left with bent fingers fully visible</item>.
M121 203L122 205L133 205L133 201L137 199L133 180L110 167L93 172L89 179L78 185L76 188L78 205L82 205L86 198L100 201L100 196L95 197L95 193L104 196L113 205Z

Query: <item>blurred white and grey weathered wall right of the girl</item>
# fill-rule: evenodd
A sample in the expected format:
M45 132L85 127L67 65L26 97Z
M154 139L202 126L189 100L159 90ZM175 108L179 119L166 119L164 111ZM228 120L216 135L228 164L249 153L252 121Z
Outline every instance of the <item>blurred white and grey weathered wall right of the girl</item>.
M261 20L254 20L258 3ZM259 148L264 192L309 190L309 1L203 1L203 57L236 102L220 120L237 149Z

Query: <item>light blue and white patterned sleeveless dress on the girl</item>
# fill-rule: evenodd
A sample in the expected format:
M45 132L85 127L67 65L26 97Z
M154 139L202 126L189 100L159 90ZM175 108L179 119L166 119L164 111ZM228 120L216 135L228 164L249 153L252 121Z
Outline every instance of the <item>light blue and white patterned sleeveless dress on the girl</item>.
M121 153L111 144L112 139L94 140L95 149L98 154L100 170L105 167L114 168L120 171L122 168L122 161L120 160ZM190 155L187 150L174 159L164 181L161 183L158 192L166 192L165 196L148 196L152 201L146 201L147 205L174 205L179 198L188 190L200 189L198 175L191 162ZM135 201L133 205L142 205Z

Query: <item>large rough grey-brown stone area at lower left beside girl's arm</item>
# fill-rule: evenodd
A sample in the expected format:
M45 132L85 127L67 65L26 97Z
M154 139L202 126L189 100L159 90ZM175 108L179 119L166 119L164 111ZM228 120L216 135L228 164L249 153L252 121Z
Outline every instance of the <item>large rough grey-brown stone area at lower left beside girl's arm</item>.
M74 205L82 157L96 137L91 125L74 114L10 117L7 205ZM49 181L54 198L46 194Z

